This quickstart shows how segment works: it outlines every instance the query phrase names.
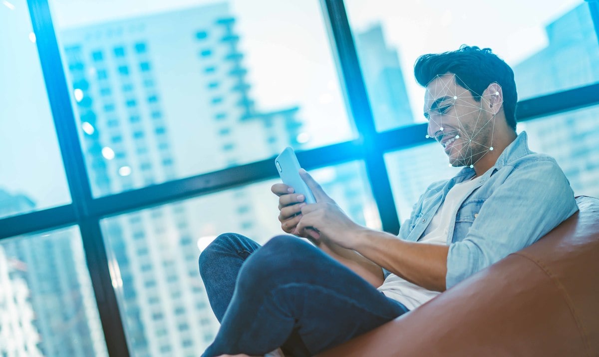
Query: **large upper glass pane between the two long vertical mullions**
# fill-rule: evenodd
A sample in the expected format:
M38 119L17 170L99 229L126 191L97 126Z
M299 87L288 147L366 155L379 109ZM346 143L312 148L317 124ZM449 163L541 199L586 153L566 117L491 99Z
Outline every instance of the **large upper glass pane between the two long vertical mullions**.
M95 196L355 137L317 0L51 4Z

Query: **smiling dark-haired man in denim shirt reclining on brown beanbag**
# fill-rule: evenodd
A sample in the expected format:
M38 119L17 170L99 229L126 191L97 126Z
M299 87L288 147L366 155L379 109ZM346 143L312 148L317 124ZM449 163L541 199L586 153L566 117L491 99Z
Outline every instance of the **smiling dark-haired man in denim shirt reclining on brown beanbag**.
M277 347L314 355L417 308L576 212L556 162L516 135L516 86L503 60L462 46L421 56L415 75L426 88L427 136L464 169L426 189L400 239L352 222L305 171L316 204L274 184L283 231L315 246L285 235L264 247L237 234L211 243L199 267L221 327L204 356Z

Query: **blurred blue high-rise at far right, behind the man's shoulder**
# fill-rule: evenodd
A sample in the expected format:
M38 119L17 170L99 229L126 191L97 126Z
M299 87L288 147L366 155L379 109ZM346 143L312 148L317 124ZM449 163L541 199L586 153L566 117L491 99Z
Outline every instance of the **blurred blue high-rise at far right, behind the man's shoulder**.
M599 47L588 4L546 26L549 44L514 67L520 98L599 81ZM553 156L577 195L599 195L597 107L525 122L533 150Z

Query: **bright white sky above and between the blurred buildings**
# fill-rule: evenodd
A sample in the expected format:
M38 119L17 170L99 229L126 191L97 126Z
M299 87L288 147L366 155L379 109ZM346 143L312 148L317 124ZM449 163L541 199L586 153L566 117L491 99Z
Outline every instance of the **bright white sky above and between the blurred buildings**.
M415 120L422 121L423 89L412 76L419 55L466 43L491 47L514 65L546 46L544 26L581 2L346 0L346 8L353 31L382 23L386 40L399 52ZM210 3L50 0L58 31ZM299 105L311 146L354 137L320 2L230 4L259 108ZM0 188L25 193L47 208L70 198L28 16L25 0L0 0Z

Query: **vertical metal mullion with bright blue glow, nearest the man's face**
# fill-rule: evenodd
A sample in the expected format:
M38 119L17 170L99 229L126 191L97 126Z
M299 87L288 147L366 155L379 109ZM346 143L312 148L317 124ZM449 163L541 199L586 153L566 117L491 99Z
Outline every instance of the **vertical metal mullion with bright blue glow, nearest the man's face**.
M383 151L377 143L378 133L374 125L374 117L343 0L322 0L322 5L326 15L325 19L328 20L329 32L337 50L338 65L347 90L347 101L363 143L368 183L379 210L383 230L397 234L400 229L400 221Z

